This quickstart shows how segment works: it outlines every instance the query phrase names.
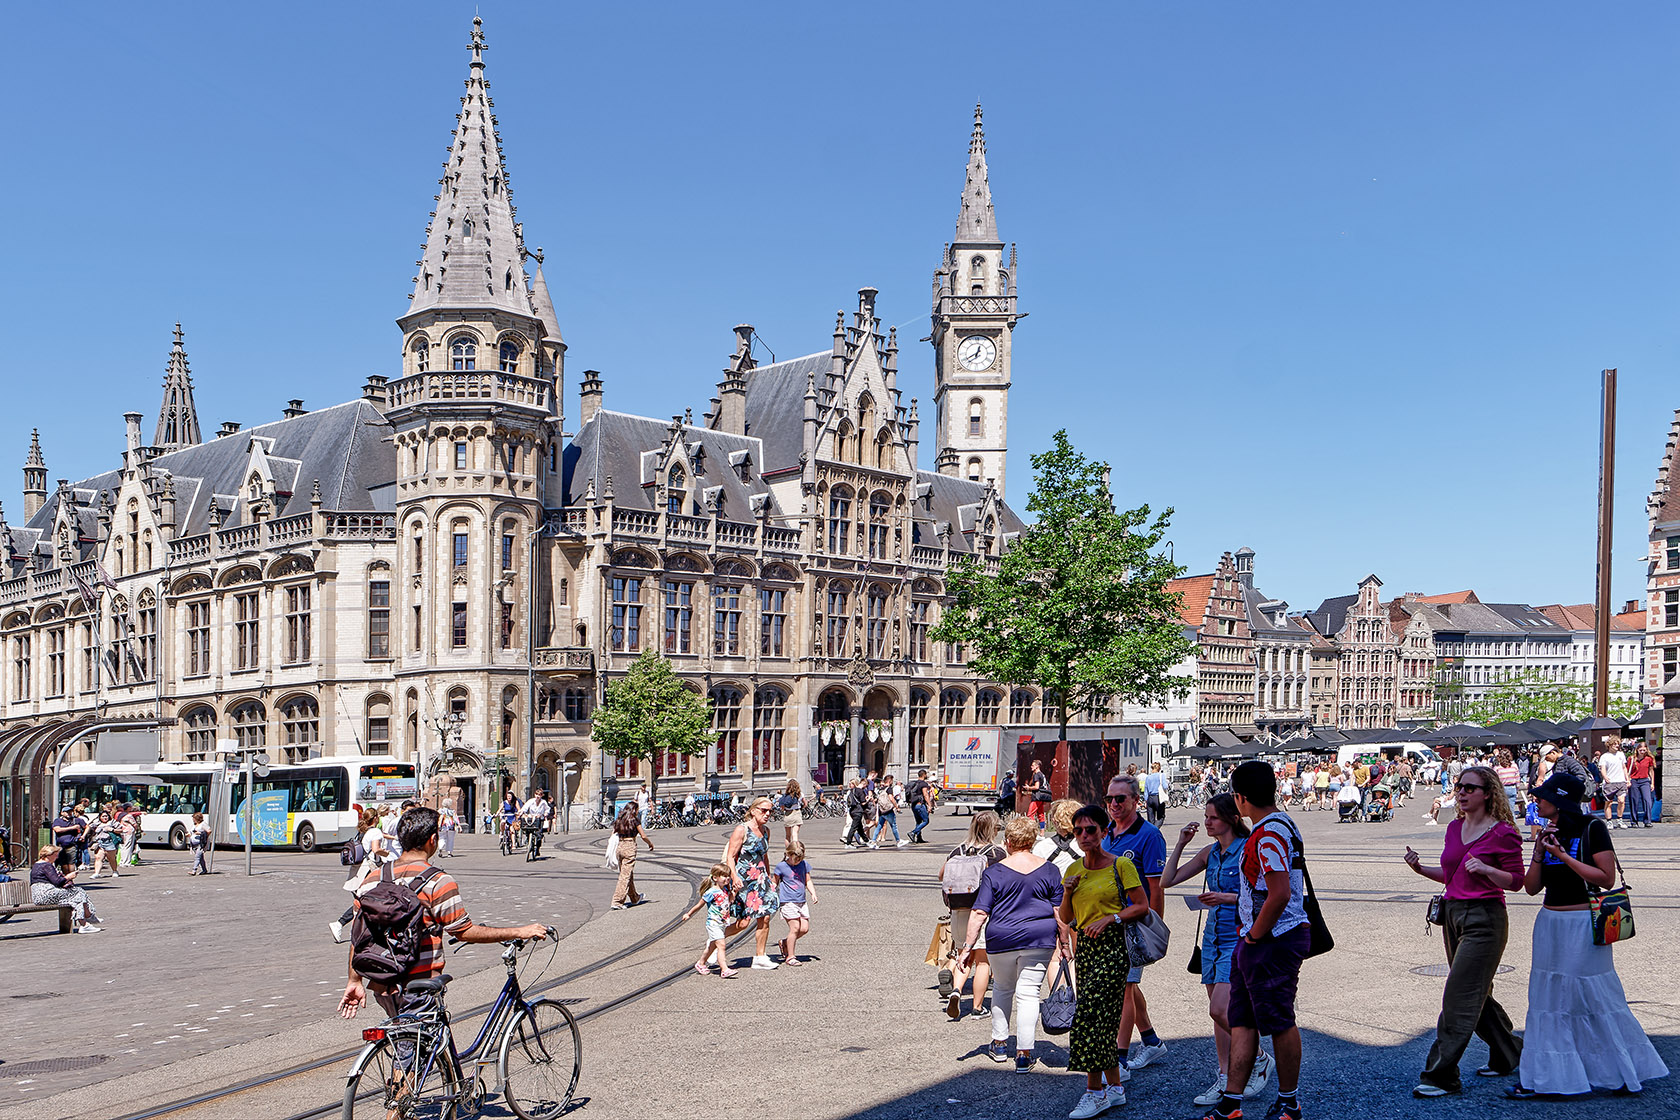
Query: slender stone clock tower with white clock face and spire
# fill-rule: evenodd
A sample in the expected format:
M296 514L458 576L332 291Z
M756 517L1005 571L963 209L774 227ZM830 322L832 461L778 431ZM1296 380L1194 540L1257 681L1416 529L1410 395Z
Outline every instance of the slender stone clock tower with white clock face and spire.
M1008 448L1010 339L1015 332L1015 247L1005 262L986 181L986 134L974 106L968 180L956 237L934 274L934 405L939 474L996 485Z

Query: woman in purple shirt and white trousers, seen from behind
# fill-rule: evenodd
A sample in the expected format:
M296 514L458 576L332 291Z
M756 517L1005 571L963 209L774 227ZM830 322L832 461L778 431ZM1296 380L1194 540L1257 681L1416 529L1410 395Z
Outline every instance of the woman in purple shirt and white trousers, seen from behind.
M1010 1009L1015 1014L1015 1071L1026 1073L1038 1061L1033 1056L1038 1029L1038 992L1043 986L1050 950L1055 949L1055 908L1062 903L1062 875L1055 863L1033 855L1038 821L1011 816L1003 826L1003 860L986 868L979 880L974 912L968 919L968 942L961 966L981 930L991 957L991 1044L986 1056L1010 1060Z

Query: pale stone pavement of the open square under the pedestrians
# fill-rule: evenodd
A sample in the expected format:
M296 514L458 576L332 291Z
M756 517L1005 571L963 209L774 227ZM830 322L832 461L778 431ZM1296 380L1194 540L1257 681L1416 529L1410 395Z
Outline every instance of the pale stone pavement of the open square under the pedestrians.
M1189 811L1174 811L1169 835L1184 819ZM1441 979L1430 972L1438 971L1435 966L1443 955L1440 937L1423 922L1431 885L1413 875L1399 855L1408 843L1425 853L1438 851L1443 830L1420 821L1411 806L1386 824L1341 826L1329 813L1307 813L1299 819L1314 882L1337 937L1337 950L1310 960L1302 976L1307 1115L1354 1110L1362 1117L1480 1118L1556 1112L1559 1105L1505 1102L1500 1096L1504 1081L1473 1076L1467 1076L1467 1091L1458 1098L1416 1102L1410 1095L1440 1009ZM855 853L840 850L838 821L806 824L803 838L811 848L822 898L813 907L813 935L801 942L810 954L806 966L744 971L732 981L689 976L591 1019L585 1026L580 1102L571 1115L701 1113L707 1120L1067 1115L1082 1090L1082 1076L1065 1070L1065 1039L1040 1041L1047 1061L1030 1076L993 1065L983 1053L990 1034L986 1023L974 1018L949 1023L934 994L932 969L922 964L929 932L942 912L934 875L964 826L966 818L941 813L931 830L932 845ZM1680 1112L1680 855L1672 831L1670 826L1614 833L1640 920L1640 935L1618 947L1616 957L1635 1014L1677 1073L1648 1083L1636 1103L1598 1096L1564 1105L1571 1118L1620 1120L1630 1112ZM717 856L722 840L724 831L714 828L655 833L659 858L667 868L704 868ZM0 1066L0 1117L121 1115L141 1103L185 1096L186 1086L234 1083L254 1070L287 1066L353 1044L358 1024L324 1018L331 1011L326 996L307 994L307 989L334 987L343 971L343 950L326 942L323 927L329 900L338 903L329 895L341 878L338 866L311 870L304 856L265 858L274 861L272 873L237 888L228 882L232 870L225 856L228 873L212 880L188 880L185 868L178 883L158 875L156 885L144 885L156 893L143 905L136 898L133 917L111 910L113 919L126 920L126 925L113 920L111 935L10 944L12 994L30 994L34 987L62 992L54 999L15 1001L27 1007L27 1029L20 1019L18 1029L8 1033L32 1039L29 1056L101 1053L113 1060L102 1066L101 1085L64 1095L74 1081L52 1078L34 1086L40 1100L24 1100L22 1088L29 1086L5 1081L5 1066ZM286 861L299 866L291 870ZM655 866L655 861L643 861L638 870L645 868L645 877L654 878L660 875ZM155 868L160 870L165 868ZM462 877L469 903L484 920L512 919L536 908L575 919L576 932L563 945L564 967L601 959L613 947L657 929L689 895L685 883L667 878L669 887L652 892L652 905L608 913L605 902L612 880L593 851L559 853L553 866L536 877L526 877L522 866L514 870L511 861L504 865L489 851L469 853L450 870ZM170 877L175 878L173 871ZM136 880L134 887L139 885ZM183 900L181 892L188 887L227 890L220 892L222 898ZM128 890L124 880L102 893L114 902L118 892ZM161 890L176 893L161 895ZM522 892L541 892L524 895L536 905L521 902ZM1184 893L1184 888L1173 893ZM1512 898L1505 952L1510 972L1497 982L1500 1001L1519 1024L1527 1006L1534 910L1534 900ZM274 920L274 915L297 913L306 917L289 920L301 932ZM1189 1096L1206 1086L1215 1070L1205 992L1183 966L1194 935L1194 915L1173 898L1168 919L1174 932L1173 952L1146 972L1144 992L1169 1053L1127 1086L1131 1105L1124 1112L1141 1117L1196 1115L1200 1110ZM146 924L156 927L155 934L139 932ZM124 934L124 929L134 932ZM228 945L234 929L259 952ZM692 960L701 937L699 925L682 927L647 955L564 991L583 999L583 1006L630 991ZM480 952L479 964L491 964L491 954ZM25 955L30 957L29 974L50 977L45 984L17 984L17 962ZM460 976L455 959L450 971ZM101 974L99 966L113 971ZM259 974L255 982L252 972ZM452 1006L457 1006L457 989L460 999L477 1001L494 992L497 982L491 974L457 982L450 989ZM185 996L186 991L193 994ZM272 999L270 992L286 999ZM240 999L252 999L255 1009L239 1011ZM186 1002L200 1004L192 1009L195 1016L156 1014L161 1007L185 1011ZM129 1023L144 1023L151 1031L138 1028L146 1031L143 1041L128 1046L106 1039L92 1048L42 1041L59 1038L49 1029L54 1021L64 1021L55 1004L79 1024L87 1023L89 1013L104 1009L109 1023L121 1021L116 1031L138 1038ZM113 1007L123 1009L114 1019L109 1018ZM144 1014L128 1014L129 1007L144 1007ZM227 1024L228 1013L239 1021ZM212 1014L223 1018L208 1031L190 1034L181 1026L183 1021L205 1026L193 1018L208 1021ZM170 1034L183 1038L170 1039ZM217 1041L202 1041L207 1034ZM86 1033L77 1036L86 1038ZM217 1044L257 1036L260 1041L244 1049L213 1051ZM134 1053L119 1055L124 1049ZM173 1065L160 1063L165 1055ZM1483 1056L1482 1044L1472 1043L1467 1073ZM129 1063L153 1068L128 1075ZM237 1105L218 1102L183 1115L289 1117L304 1105L334 1100L341 1090L341 1071L331 1070L247 1093ZM1258 1105L1252 1110L1258 1115L1270 1105L1270 1093L1250 1103ZM504 1113L492 1105L486 1115Z

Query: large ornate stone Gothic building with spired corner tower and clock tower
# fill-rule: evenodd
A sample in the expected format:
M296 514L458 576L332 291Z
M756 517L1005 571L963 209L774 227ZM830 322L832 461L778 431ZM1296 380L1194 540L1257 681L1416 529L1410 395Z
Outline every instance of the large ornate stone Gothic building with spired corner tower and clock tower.
M1021 529L1003 504L1015 250L979 109L932 285L934 472L869 287L805 358L761 366L734 327L699 420L617 411L632 386L586 369L568 437L559 312L484 47L474 20L391 376L203 438L176 327L150 443L128 413L121 465L54 487L30 447L22 526L0 514L8 796L54 744L126 725L175 761L218 739L276 761L445 759L479 806L558 789L570 764L581 801L648 777L590 742L603 688L647 648L716 705L704 757L652 764L679 794L902 772L939 762L941 727L1053 722L929 640L954 559L995 563Z

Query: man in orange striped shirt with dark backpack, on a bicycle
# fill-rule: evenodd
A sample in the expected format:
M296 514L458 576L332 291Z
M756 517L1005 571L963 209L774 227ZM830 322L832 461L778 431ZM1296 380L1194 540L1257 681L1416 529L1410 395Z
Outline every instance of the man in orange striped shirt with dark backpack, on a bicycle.
M396 821L396 838L403 851L391 863L391 877L400 883L413 883L422 875L432 873L415 892L425 913L422 917L423 932L420 935L420 952L415 964L403 976L403 987L371 986L373 997L388 1016L400 1013L420 1014L435 1007L442 992L410 992L407 986L415 981L427 981L444 971L444 935L449 934L457 942L472 945L489 945L504 940L543 940L548 927L533 922L531 925L496 927L475 925L467 917L467 907L460 900L460 887L447 871L432 866L437 856L437 809L413 808ZM358 898L356 905L361 902ZM338 1013L346 1019L354 1019L356 1013L368 1002L370 984L356 976L349 967L349 982L338 1001Z

